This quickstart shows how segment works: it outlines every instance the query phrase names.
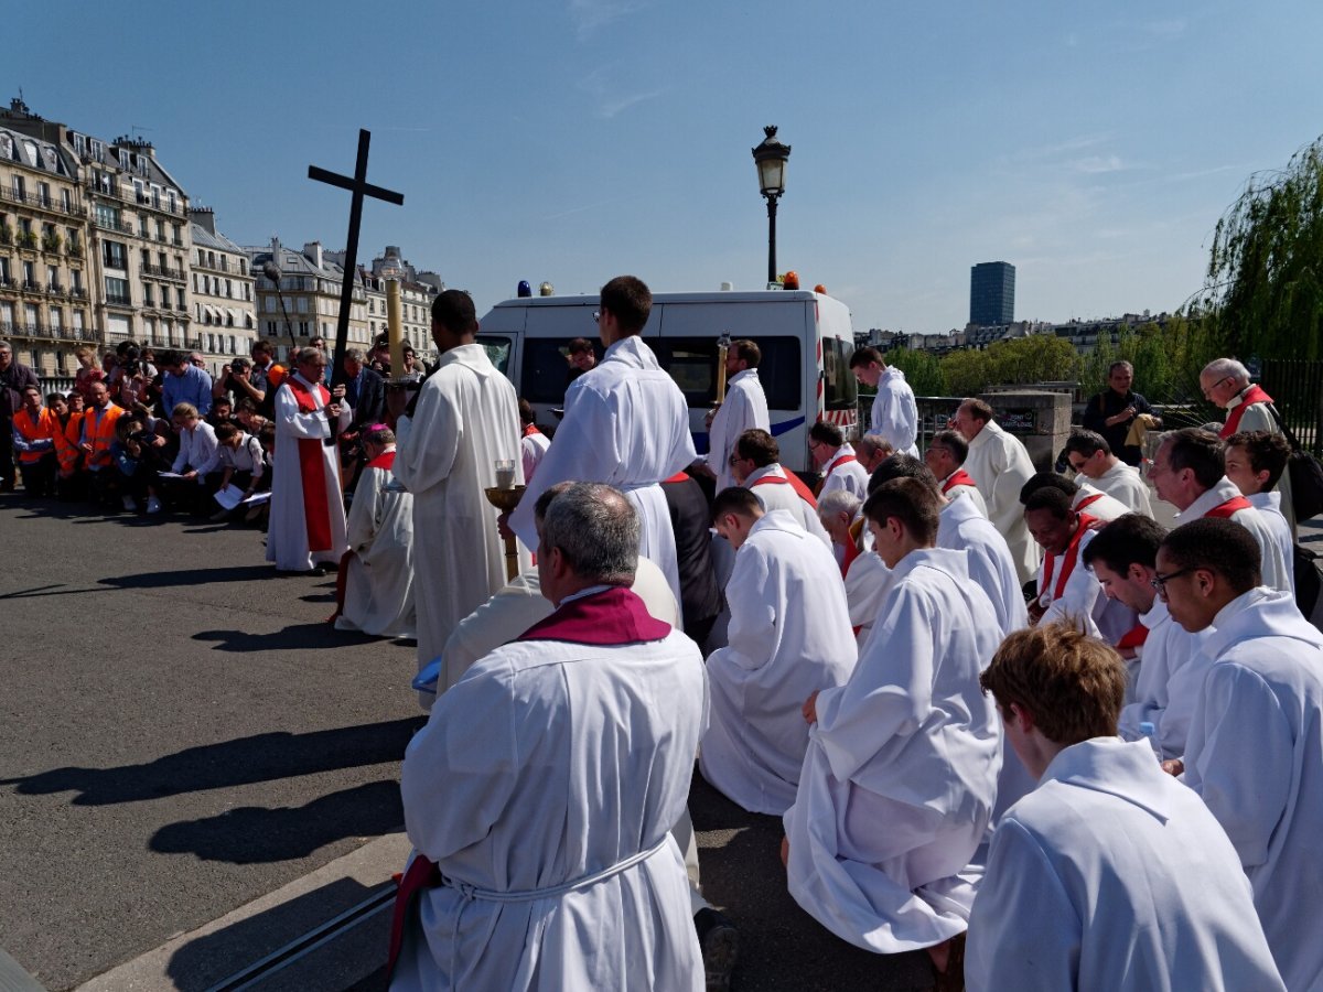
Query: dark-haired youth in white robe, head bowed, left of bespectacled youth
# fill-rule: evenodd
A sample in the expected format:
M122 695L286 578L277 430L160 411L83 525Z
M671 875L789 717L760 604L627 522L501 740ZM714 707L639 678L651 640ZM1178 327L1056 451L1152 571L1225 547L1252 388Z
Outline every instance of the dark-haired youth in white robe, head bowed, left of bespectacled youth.
M1204 655L1209 631L1191 634L1171 619L1167 604L1154 589L1158 574L1158 546L1167 532L1152 517L1127 513L1102 528L1084 559L1093 569L1109 599L1125 603L1139 614L1139 626L1130 643L1129 655L1139 672L1121 710L1118 733L1127 741L1146 737L1144 723L1152 727L1152 746L1163 758L1185 753L1185 735L1195 712L1195 698L1203 686L1212 659ZM1129 667L1129 661L1127 661Z

